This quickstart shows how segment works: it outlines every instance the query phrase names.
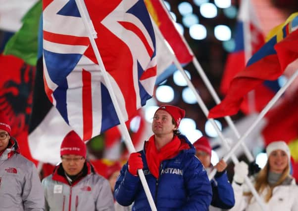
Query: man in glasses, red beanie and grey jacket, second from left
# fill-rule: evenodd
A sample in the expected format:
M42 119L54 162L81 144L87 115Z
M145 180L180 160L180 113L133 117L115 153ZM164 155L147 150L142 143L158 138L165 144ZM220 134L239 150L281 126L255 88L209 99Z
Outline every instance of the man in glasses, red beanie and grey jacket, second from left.
M43 179L47 211L114 211L109 182L86 161L86 145L73 130L62 141L62 162Z

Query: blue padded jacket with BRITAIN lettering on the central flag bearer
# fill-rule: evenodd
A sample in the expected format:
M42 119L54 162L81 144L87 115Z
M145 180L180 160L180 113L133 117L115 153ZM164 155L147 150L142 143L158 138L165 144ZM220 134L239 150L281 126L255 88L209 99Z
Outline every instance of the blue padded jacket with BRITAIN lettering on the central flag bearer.
M212 199L211 185L206 170L195 156L195 148L183 135L180 140L190 148L172 159L162 161L159 177L149 171L145 150L141 151L144 174L158 211L207 211ZM128 171L125 164L115 184L115 199L122 206L134 202L133 211L150 211L139 176Z

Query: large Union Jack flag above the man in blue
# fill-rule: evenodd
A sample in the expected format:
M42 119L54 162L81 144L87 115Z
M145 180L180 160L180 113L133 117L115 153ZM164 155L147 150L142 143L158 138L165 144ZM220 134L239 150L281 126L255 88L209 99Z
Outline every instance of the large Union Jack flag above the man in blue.
M125 119L156 79L155 37L143 0L85 1L96 43ZM75 0L44 0L44 82L65 122L88 140L119 124Z

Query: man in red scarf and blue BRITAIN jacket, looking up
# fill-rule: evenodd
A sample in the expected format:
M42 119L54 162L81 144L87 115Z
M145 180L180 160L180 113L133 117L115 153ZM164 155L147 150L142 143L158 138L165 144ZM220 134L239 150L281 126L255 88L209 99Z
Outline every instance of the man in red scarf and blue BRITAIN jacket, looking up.
M207 211L212 198L207 173L195 148L178 133L185 111L162 105L154 114L144 150L132 153L115 184L115 199L133 211L150 211L137 170L143 169L158 211Z

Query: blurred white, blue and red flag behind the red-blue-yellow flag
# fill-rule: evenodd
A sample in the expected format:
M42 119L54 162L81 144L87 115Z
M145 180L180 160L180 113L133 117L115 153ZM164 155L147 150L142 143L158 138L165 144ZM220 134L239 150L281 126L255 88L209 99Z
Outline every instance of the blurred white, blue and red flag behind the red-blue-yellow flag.
M246 62L265 40L259 20L249 0L242 0L235 33L236 47L229 53L225 65L220 91L227 94L233 78L245 68ZM244 114L260 112L280 88L278 81L264 81L253 93L245 95L240 105Z

